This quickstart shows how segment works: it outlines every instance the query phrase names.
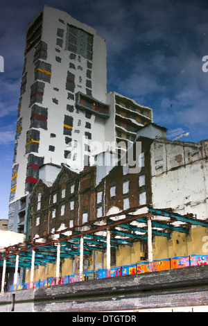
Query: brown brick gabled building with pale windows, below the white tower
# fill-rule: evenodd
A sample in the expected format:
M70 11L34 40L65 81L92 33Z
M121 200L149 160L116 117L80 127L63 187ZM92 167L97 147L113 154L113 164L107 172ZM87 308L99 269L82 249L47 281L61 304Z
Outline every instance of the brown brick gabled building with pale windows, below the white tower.
M138 173L129 173L128 164L111 166L111 170L99 182L100 170L105 166L91 166L76 171L69 166L57 167L57 178L53 185L40 178L31 194L31 214L29 218L29 238L42 237L60 228L73 228L96 221L110 214L151 205L150 185L150 144L153 140L141 141L140 169ZM53 164L40 168L52 169Z

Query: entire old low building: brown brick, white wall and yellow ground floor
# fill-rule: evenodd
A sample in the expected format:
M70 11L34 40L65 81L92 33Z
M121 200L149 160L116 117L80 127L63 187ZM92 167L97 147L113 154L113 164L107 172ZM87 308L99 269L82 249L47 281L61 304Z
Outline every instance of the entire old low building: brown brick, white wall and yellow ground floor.
M55 234L60 230L69 233L89 230L92 223L99 225L99 218L103 216L116 216L137 207L168 209L207 220L207 141L198 144L169 141L165 131L166 128L150 123L137 132L134 146L137 142L141 143L137 173L131 173L130 166L120 164L120 160L117 164L114 162L109 171L106 171L106 166L98 164L80 172L64 165L57 171L54 182L47 183L45 179L40 179L31 194L29 239ZM40 175L45 168L51 169L50 164L40 168ZM101 169L103 174L99 171ZM207 237L206 228L188 224L186 229L180 230L183 223L178 221L175 227L171 227L171 234L163 235L157 221L164 222L164 230L168 228L167 218L153 218L153 259L206 254L203 246L204 237ZM129 237L134 225L135 228L144 228L137 233L141 239L135 239L131 246L121 244L119 248L112 247L112 266L135 264L148 259L147 228L142 221L132 223L128 233L126 228L122 230L122 225L111 232L116 239L122 239L122 234ZM105 258L106 252L94 252L93 257L85 257L85 267L89 271L105 268ZM66 269L67 263L64 263L64 273L78 271L76 259L71 261L69 271Z

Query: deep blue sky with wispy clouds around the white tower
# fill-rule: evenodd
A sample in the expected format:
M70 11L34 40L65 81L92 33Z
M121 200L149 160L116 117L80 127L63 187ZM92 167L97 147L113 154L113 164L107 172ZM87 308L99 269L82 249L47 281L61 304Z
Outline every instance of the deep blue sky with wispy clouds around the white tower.
M168 138L207 139L208 4L203 0L2 1L0 11L0 218L8 218L26 29L47 4L96 28L107 41L107 92L153 108Z

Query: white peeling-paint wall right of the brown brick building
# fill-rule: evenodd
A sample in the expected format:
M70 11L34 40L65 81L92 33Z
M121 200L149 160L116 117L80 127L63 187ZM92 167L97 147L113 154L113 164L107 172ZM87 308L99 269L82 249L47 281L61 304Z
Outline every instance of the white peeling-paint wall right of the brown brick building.
M207 218L207 141L154 141L150 153L153 206Z

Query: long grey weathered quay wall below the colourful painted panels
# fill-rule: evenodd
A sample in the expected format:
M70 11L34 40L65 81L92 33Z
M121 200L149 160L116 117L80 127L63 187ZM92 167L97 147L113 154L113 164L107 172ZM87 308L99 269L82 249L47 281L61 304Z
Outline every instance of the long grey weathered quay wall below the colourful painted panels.
M208 304L208 266L0 294L0 311L140 311ZM15 296L15 298L14 298Z

